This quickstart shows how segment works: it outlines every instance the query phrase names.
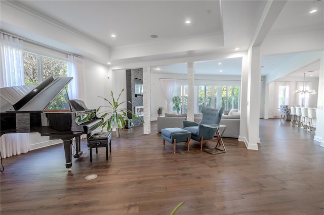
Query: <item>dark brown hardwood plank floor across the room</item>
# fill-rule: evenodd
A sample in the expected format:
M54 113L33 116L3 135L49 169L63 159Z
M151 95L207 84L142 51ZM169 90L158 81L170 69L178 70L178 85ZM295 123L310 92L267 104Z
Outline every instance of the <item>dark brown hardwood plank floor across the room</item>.
M115 136L108 161L99 148L90 163L83 141L71 172L61 144L3 159L1 214L170 214L182 201L176 214L324 214L324 148L289 121L260 120L259 150L223 138L217 155L194 140L173 153L156 122Z

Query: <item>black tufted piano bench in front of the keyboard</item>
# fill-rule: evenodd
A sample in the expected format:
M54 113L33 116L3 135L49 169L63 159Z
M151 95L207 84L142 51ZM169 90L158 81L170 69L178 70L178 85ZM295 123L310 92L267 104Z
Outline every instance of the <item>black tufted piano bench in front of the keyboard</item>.
M96 148L98 154L99 147L106 147L106 160L108 160L108 144L111 153L111 132L95 133L88 139L88 147L90 148L90 162L92 162L92 148Z

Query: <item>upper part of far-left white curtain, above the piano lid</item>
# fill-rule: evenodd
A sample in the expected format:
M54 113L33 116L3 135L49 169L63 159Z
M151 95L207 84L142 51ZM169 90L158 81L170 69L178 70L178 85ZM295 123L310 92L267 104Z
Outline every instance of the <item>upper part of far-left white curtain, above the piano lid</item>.
M22 40L1 34L0 87L25 85Z

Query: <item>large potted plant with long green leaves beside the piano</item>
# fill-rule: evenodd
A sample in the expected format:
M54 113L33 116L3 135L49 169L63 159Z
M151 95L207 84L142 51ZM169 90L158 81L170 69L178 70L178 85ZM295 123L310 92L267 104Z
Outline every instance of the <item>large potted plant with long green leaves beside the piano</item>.
M131 124L133 125L133 120L138 117L142 122L144 122L143 119L140 116L138 116L138 114L134 113L133 111L125 109L125 108L120 108L120 105L126 102L126 101L119 102L120 95L123 92L124 92L124 89L121 90L117 100L115 100L115 98L113 97L113 92L111 91L112 102L110 102L107 98L99 96L99 97L103 98L105 101L107 101L108 104L101 105L97 109L97 114L101 115L100 118L108 117L108 118L104 119L104 122L101 125L101 127L102 127L101 131L103 131L103 128L105 126L107 126L107 131L111 131L112 128L116 128L116 131L117 131L116 136L117 137L120 136L119 129L125 128L128 121L130 121ZM127 102L131 103L130 101L127 101ZM104 110L102 110L102 109L104 109ZM130 119L127 116L127 113L132 115L132 119Z

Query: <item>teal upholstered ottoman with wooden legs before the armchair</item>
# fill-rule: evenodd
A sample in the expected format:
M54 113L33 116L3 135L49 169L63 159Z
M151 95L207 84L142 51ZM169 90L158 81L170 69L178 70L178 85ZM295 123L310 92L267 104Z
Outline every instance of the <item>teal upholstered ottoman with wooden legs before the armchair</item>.
M161 136L163 138L163 145L165 145L166 140L173 144L173 153L176 153L176 143L178 142L187 142L187 150L189 151L190 131L182 128L164 128L161 129Z

